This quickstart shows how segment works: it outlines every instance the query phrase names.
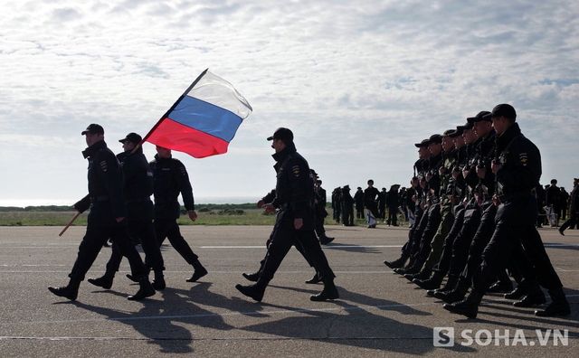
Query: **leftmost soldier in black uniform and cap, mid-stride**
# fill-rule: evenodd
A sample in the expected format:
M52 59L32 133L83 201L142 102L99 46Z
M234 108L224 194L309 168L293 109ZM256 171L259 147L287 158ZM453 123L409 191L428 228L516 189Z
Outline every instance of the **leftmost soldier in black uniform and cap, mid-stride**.
M127 233L127 211L123 198L123 174L117 157L104 141L105 131L98 124L91 124L81 135L86 135L89 146L82 155L89 160L89 194L74 204L77 212L90 208L87 231L79 246L79 253L72 267L68 286L48 287L56 296L74 301L79 286L97 256L100 248L109 240L127 257L132 274L140 288L130 300L141 300L155 295L155 288L148 280L148 271Z

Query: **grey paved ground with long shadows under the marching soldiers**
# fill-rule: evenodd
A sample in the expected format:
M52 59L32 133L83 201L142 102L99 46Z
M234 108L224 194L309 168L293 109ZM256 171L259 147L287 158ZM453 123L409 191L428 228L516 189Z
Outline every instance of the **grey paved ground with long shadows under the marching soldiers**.
M293 249L261 303L242 297L234 286L247 283L243 271L257 269L271 230L251 226L182 228L210 271L201 282L185 282L191 267L164 245L168 287L156 296L127 300L138 286L125 278L125 260L112 289L85 281L78 300L69 302L47 287L68 282L84 228L72 227L59 238L61 229L0 228L3 357L577 355L579 231L565 237L551 228L540 231L572 316L538 318L532 309L489 295L479 318L469 320L446 312L441 301L384 266L384 259L398 257L407 228L328 228L336 240L325 252L341 297L323 303L309 301L321 286L304 283L313 270ZM109 252L101 251L89 277L101 275ZM434 347L434 327L454 329L454 346Z

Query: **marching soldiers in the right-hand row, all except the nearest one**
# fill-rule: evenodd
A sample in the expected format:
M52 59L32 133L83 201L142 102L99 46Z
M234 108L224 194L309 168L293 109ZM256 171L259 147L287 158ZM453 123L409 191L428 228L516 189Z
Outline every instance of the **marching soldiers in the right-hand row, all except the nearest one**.
M490 170L501 154L491 117L488 111L479 112L467 118L465 125L415 144L419 155L411 182L416 192L415 223L400 258L384 261L396 274L427 290L428 296L444 301L445 309L470 318L477 316L484 295L472 289L468 297L496 228L498 209L492 198L500 191ZM502 149L508 151L508 147ZM517 307L543 305L546 296L536 277L524 277L517 267L515 256L526 255L520 243L518 247L512 259L501 263L504 269L499 269L486 292L504 293L516 300L513 305ZM517 282L515 289L509 277ZM549 294L553 303L536 310L536 316L570 314L562 289L549 289Z

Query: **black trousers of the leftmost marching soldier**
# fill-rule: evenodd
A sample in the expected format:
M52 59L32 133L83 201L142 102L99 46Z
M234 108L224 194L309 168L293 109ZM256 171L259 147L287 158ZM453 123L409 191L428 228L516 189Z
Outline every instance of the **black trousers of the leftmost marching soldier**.
M135 249L133 241L128 236L125 226L94 226L89 224L69 277L82 281L94 260L99 256L100 249L109 238L117 245L122 256L128 259L133 276L140 278L147 275L147 269L137 249Z

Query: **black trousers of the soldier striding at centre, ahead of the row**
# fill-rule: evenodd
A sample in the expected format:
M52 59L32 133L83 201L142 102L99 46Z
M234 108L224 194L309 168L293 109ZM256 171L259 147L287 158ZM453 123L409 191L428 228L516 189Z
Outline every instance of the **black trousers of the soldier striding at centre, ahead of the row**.
M305 253L304 257L311 261L314 269L318 271L319 278L336 277L329 267L326 255L319 246L314 231L296 230L293 216L289 212L278 212L270 239L260 278L270 281L280 268L281 261L288 254L291 246L296 243L296 248L301 246Z

